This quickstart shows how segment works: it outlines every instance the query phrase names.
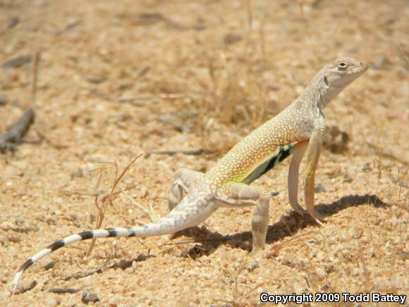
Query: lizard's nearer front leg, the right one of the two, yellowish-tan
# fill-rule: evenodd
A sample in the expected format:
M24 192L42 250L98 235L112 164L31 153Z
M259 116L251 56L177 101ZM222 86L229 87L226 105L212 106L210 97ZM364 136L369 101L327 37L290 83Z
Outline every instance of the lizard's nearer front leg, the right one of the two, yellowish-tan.
M324 140L324 133L326 131L326 124L324 119L319 119L312 131L310 141L307 147L307 165L305 168L305 182L304 182L304 198L307 212L319 225L323 225L319 219L324 221L324 217L320 215L314 207L315 194L315 170L319 161L321 153L322 142Z

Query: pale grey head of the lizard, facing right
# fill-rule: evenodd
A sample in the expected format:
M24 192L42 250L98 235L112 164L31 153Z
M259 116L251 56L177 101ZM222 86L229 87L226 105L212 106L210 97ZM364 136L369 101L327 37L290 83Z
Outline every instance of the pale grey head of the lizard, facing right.
M363 64L349 57L341 57L326 65L319 76L326 90L326 96L331 100L356 78L367 71L367 64Z

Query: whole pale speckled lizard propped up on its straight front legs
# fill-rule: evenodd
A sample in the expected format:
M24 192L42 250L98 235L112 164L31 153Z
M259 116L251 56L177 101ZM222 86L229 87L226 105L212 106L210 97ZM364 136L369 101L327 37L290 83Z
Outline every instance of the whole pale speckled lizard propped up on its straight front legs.
M282 112L256 128L206 173L179 169L169 195L170 212L143 226L82 231L55 241L25 261L11 283L16 290L25 270L57 249L93 238L147 237L174 234L204 222L218 207L252 206L252 254L264 250L271 193L250 186L286 157L293 155L288 169L288 202L295 212L308 213L317 224L324 217L314 207L315 170L326 131L324 108L350 83L367 71L367 64L341 57L326 64L303 93ZM306 153L304 199L298 203L298 173Z

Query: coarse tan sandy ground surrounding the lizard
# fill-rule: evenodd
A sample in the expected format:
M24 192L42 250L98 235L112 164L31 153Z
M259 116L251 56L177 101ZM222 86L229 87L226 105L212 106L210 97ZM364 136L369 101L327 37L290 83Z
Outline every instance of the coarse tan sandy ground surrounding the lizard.
M1 0L0 64L36 52L39 62L34 96L33 61L0 68L0 131L23 109L36 112L28 142L0 155L0 304L83 306L85 294L97 306L256 305L262 292L408 294L408 32L405 1ZM122 171L140 153L206 150L140 157L118 183L116 191L164 215L177 169L209 169L343 55L370 69L326 109L350 143L322 152L324 227L288 205L286 160L254 183L279 192L268 257L254 270L251 210L221 209L172 241L100 239L89 257L90 241L63 248L25 272L20 284L35 281L33 289L10 296L28 257L95 227L93 193L110 191L115 167L97 164L97 184L92 163L115 160ZM102 227L137 220L149 219L121 193Z

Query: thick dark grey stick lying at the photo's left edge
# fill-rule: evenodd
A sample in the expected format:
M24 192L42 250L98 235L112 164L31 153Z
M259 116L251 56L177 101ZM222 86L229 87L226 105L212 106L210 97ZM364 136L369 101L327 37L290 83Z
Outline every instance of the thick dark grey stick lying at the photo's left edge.
M15 124L8 126L6 133L0 135L0 152L16 151L34 119L34 110L26 109Z

